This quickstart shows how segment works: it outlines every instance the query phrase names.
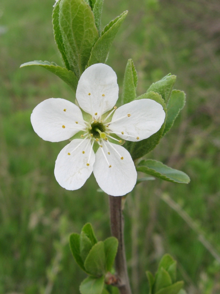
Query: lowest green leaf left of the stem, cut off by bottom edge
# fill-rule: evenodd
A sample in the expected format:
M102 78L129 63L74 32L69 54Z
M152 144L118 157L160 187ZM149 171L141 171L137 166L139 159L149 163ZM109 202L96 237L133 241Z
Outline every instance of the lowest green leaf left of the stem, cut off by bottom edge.
M81 294L101 294L104 287L104 277L101 278L86 278L80 285L79 291Z

